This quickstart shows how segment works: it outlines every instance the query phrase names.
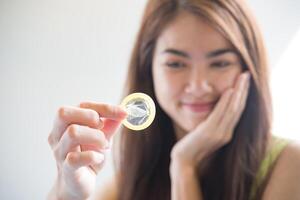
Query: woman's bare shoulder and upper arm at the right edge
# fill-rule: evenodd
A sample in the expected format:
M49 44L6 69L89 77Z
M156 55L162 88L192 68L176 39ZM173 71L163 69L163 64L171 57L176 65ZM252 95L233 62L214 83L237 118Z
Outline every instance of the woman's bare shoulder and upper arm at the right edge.
M300 142L276 138L274 149L282 146L266 185L263 199L300 199Z

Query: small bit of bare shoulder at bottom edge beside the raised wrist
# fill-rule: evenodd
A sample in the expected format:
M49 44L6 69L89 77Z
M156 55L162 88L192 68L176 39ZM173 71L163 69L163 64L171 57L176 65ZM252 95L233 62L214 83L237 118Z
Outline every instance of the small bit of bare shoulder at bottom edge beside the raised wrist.
M117 199L117 176L106 178L97 187L93 200L116 200Z

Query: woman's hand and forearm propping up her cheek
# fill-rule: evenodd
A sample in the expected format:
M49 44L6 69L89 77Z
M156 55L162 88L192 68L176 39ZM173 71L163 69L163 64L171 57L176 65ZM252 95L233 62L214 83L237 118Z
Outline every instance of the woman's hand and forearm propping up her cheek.
M233 130L245 108L250 73L240 74L234 88L223 92L210 115L187 133L171 151L172 200L202 200L196 173L199 163L231 141Z

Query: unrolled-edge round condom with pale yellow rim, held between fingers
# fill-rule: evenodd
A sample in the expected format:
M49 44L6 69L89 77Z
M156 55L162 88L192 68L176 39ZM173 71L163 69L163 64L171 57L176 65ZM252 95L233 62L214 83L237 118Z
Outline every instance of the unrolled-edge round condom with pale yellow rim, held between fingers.
M121 107L128 114L122 123L131 130L146 129L155 118L155 104L151 97L144 93L128 95L123 99Z

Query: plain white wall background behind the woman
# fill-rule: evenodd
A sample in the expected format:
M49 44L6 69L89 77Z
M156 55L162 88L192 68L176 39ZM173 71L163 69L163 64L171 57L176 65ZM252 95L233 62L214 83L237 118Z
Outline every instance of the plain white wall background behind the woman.
M298 88L287 80L300 72L295 53L300 34L292 47L289 44L300 28L300 2L249 3L278 71L275 90L290 89L286 95L291 102ZM83 100L118 103L144 4L145 0L0 0L0 199L45 198L56 173L47 136L59 106ZM291 53L284 54L286 49ZM299 83L296 76L293 80ZM276 106L284 112L287 98L281 94L277 92L281 99ZM283 135L289 130L293 134L288 137L299 138L299 128L292 126L299 105L295 101L289 108L277 120L281 126L276 130ZM99 180L110 173L107 165Z

